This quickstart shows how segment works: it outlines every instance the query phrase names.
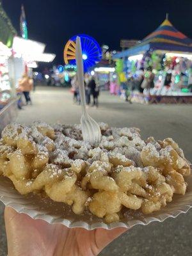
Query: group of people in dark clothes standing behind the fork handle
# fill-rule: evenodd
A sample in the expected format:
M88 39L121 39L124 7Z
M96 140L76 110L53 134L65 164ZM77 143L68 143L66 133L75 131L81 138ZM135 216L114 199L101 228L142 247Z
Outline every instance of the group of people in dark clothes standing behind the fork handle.
M74 76L72 81L72 92L74 93L74 103L81 104L81 99L79 95L79 83L77 76ZM95 82L95 77L89 74L84 75L84 88L86 96L86 104L88 106L98 107L98 97L99 97L99 86Z

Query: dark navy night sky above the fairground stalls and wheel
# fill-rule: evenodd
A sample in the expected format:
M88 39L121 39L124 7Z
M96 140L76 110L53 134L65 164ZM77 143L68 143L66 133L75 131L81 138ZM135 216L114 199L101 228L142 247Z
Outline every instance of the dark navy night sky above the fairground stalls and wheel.
M73 35L85 33L100 45L120 49L121 38L144 38L163 22L166 12L175 28L192 38L192 0L3 0L17 31L22 3L29 38L56 53L56 63L63 63L63 47Z

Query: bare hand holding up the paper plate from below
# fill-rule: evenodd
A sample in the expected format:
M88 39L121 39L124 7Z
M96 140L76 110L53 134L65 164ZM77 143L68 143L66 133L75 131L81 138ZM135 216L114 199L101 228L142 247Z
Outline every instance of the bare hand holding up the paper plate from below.
M19 214L10 207L4 211L8 256L95 256L127 229L67 228Z

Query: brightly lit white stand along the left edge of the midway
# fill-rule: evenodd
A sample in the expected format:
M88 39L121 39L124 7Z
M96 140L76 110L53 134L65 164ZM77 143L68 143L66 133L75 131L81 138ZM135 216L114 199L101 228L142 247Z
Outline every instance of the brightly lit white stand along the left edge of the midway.
M0 132L17 116L17 85L22 74L51 62L55 54L45 53L45 44L20 38L0 1ZM31 74L32 75L32 74Z

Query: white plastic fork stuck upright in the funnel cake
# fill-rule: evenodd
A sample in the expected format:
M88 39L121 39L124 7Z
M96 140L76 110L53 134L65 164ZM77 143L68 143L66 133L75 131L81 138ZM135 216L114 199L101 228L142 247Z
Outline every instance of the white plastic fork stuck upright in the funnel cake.
M77 81L79 83L79 92L81 97L82 116L81 116L81 131L83 140L91 144L97 145L100 142L100 127L88 115L86 111L85 90L84 90L84 72L83 72L83 58L81 49L81 39L76 38L76 64L77 64Z

